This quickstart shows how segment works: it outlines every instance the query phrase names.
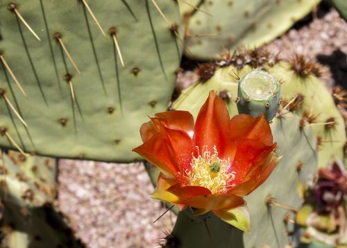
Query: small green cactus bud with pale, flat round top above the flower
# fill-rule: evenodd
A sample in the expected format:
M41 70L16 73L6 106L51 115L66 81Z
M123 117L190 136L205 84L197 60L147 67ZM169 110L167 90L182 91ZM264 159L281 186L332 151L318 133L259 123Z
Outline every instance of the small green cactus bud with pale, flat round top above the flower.
M280 83L268 72L255 69L239 81L237 97L239 114L258 117L264 113L269 122L280 106Z

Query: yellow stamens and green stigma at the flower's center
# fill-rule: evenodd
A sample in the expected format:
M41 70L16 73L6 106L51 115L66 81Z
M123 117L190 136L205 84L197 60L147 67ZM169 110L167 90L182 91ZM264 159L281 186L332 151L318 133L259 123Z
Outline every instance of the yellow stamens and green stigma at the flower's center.
M213 149L213 153L202 151L200 154L198 151L198 157L192 158L192 170L187 176L191 185L208 188L215 194L226 190L228 181L235 179L235 172L228 172L230 161L218 157L216 146Z

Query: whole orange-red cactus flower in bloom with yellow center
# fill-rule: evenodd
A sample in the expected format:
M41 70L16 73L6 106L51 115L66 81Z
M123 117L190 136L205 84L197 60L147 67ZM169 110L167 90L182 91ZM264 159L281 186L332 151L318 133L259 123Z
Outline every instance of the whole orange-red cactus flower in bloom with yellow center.
M144 144L133 149L162 172L152 197L192 207L196 215L212 210L222 220L249 230L243 199L278 164L276 143L264 115L236 115L215 91L196 123L187 111L157 113L140 129ZM235 217L236 216L236 217Z

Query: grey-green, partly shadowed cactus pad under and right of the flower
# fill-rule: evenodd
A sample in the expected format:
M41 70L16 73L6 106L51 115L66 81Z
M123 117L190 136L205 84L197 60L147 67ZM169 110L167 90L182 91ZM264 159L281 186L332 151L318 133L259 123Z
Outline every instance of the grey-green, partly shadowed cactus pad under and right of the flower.
M283 157L269 179L246 197L251 233L242 233L212 213L208 213L205 220L192 220L185 212L180 212L171 235L181 247L288 245L289 232L293 229L290 220L303 203L296 188L307 184L317 167L316 138L312 129L309 126L301 128L300 122L300 117L288 113L286 117L275 117L271 123L273 138L278 142L276 152Z

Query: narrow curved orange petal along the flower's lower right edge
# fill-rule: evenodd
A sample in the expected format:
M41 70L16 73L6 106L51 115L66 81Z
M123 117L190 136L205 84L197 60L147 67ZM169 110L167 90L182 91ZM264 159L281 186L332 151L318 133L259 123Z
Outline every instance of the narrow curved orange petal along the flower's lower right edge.
M232 188L229 192L232 195L237 195L239 197L251 194L251 192L262 185L262 183L264 183L264 181L270 176L276 165L280 163L280 159L281 157L279 157L276 152L271 151L271 154L267 157L266 161L256 166L257 170L253 172L253 175L251 175L247 181L235 186L235 188Z

